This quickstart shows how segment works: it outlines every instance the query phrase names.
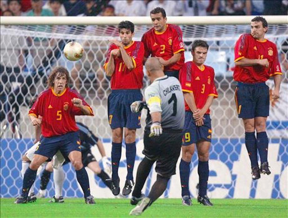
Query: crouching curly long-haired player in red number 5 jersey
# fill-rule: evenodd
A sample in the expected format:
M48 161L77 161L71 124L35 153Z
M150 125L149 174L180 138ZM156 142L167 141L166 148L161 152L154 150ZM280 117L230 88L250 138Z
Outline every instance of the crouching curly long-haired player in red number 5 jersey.
M75 122L75 115L94 114L80 94L68 87L68 83L69 72L64 67L55 67L48 78L49 89L39 94L29 111L32 124L41 125L43 137L24 174L22 194L15 201L17 204L27 202L37 169L58 150L69 157L73 164L77 180L84 192L85 202L95 204L93 196L90 195L88 175L81 161L79 129Z

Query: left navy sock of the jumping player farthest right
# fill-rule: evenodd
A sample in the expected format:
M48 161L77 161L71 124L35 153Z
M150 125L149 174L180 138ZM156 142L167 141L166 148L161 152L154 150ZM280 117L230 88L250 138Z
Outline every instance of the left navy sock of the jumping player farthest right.
M251 167L258 166L255 132L253 133L245 132L245 145L246 145L248 155L251 161Z

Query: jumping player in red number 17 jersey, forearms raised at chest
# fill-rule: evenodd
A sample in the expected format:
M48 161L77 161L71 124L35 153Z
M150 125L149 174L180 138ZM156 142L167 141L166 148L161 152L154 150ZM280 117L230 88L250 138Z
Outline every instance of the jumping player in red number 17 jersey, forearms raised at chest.
M126 143L127 176L123 195L129 195L134 185L133 168L136 156L136 128L140 126L140 113L132 113L130 104L142 100L140 89L143 85L143 56L144 46L140 41L132 41L134 24L122 21L118 24L121 42L111 40L105 72L111 76L112 93L108 97L108 120L112 129L112 192L120 192L118 167L121 159L121 148L124 128Z

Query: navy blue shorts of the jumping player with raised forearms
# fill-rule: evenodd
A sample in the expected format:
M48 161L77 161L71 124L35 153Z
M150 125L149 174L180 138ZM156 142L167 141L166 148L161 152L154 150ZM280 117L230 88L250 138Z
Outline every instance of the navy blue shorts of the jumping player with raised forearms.
M108 97L108 121L111 129L141 128L141 112L131 112L130 105L134 101L142 101L142 99L140 90L112 90Z

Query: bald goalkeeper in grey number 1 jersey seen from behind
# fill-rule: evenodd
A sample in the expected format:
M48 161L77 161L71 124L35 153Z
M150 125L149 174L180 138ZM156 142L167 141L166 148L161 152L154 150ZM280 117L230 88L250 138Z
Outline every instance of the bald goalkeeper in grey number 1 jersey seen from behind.
M148 108L144 131L145 157L137 170L136 184L132 193L131 204L137 205L130 215L140 215L167 187L175 174L176 163L182 145L184 126L184 97L179 81L175 77L164 75L163 66L157 58L148 58L145 62L151 85L145 90L145 102L135 101L131 104L132 112ZM148 197L141 194L143 185L156 161L157 180Z

